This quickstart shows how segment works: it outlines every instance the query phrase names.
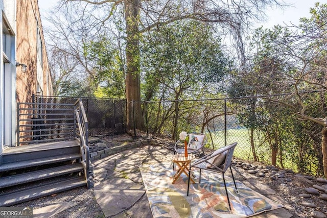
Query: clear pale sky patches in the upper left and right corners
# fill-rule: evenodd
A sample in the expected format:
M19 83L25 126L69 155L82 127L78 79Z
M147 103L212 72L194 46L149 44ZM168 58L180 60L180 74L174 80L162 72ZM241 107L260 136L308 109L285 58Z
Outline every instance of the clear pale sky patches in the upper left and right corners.
M46 17L46 11L53 8L58 1L60 0L38 0L41 19L43 16ZM284 2L293 6L284 10L278 8L269 8L266 12L268 20L265 22L258 22L257 26L272 28L277 24L282 26L284 26L284 23L289 25L290 22L298 24L300 17L310 17L309 9L314 7L316 2L327 4L327 0L284 0Z

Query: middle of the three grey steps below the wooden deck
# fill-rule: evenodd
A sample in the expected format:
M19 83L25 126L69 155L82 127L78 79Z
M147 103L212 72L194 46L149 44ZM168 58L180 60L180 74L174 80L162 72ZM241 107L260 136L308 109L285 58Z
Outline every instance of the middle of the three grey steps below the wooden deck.
M0 188L10 187L14 185L34 182L42 179L48 179L74 172L82 172L83 166L81 163L57 166L39 171L17 174L0 178Z

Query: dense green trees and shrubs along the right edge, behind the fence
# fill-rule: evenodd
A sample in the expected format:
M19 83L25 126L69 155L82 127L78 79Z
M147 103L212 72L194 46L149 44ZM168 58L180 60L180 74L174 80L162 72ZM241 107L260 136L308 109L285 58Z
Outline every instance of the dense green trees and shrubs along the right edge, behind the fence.
M249 39L252 54L233 75L229 95L270 95L237 101L243 109L238 113L240 124L263 133L256 144L277 149L277 164L291 162L298 171L318 174L322 172L319 120L326 117L327 5L316 4L310 11L311 18L301 18L298 27L255 31ZM285 92L292 94L274 95Z

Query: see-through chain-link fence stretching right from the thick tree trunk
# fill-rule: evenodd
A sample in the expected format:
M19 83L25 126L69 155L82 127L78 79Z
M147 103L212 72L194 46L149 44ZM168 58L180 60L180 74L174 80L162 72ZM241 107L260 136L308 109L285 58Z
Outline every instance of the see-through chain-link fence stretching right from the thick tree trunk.
M201 132L206 134L206 147L210 149L238 142L236 158L309 175L323 173L322 127L300 119L275 101L255 97L138 104L142 110L134 110L134 117L143 118L150 134L165 135L176 141L181 131ZM325 117L319 110L310 113Z

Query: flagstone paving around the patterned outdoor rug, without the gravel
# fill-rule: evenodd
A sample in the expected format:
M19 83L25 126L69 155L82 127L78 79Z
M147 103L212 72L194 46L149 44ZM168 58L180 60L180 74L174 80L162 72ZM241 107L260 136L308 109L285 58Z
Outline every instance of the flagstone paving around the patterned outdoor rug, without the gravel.
M93 161L94 176L97 180L93 188L94 195L105 217L153 217L138 167L171 161L172 155L173 152L164 146L147 144ZM226 175L229 176L227 172ZM233 173L235 179L241 180L248 187L270 199L278 200L275 191L267 185L255 180L244 180L245 175L242 175L236 167L233 167ZM40 208L37 212L45 214L47 210L49 212L54 208ZM289 218L291 216L292 214L286 209L281 208L252 217Z

